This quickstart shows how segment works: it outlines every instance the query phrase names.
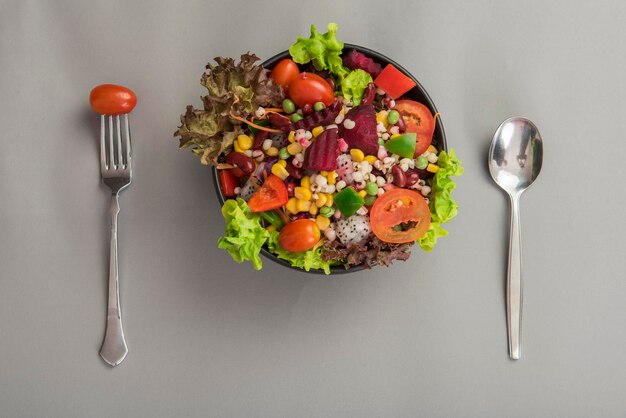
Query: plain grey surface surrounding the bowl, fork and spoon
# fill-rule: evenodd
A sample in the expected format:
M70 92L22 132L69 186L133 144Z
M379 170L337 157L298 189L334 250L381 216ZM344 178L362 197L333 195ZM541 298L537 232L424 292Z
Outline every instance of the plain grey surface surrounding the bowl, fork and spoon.
M0 2L0 415L610 417L626 414L623 1ZM418 77L466 172L432 253L338 277L217 249L209 171L172 133L213 57L339 23ZM135 90L122 195L130 353L98 356L108 194L94 85ZM508 201L486 170L527 116L522 359L507 356Z

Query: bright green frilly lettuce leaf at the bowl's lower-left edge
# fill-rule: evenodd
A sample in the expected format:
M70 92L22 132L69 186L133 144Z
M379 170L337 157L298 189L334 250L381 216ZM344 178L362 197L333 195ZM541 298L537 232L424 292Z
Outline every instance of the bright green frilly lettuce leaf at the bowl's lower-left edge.
M218 240L218 248L228 251L238 263L250 260L256 270L263 266L259 253L270 237L261 225L261 217L252 212L243 199L229 199L222 206L226 221L224 236Z

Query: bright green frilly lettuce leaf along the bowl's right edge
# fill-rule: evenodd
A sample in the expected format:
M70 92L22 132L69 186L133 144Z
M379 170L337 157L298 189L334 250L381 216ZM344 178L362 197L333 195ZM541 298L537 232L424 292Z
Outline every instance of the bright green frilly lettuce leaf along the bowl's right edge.
M454 149L450 149L449 152L441 151L437 165L439 170L429 182L431 187L429 202L430 227L426 234L417 240L424 251L431 251L439 237L448 235L448 231L443 229L441 225L454 218L458 213L459 207L451 197L451 192L456 187L451 177L463 174L463 167Z

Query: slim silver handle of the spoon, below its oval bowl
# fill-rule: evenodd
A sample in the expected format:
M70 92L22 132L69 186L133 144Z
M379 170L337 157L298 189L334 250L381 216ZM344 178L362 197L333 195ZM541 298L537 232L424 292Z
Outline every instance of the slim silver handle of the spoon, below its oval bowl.
M511 234L509 269L506 283L506 317L509 333L509 357L518 360L522 336L522 246L519 215L520 194L511 195Z

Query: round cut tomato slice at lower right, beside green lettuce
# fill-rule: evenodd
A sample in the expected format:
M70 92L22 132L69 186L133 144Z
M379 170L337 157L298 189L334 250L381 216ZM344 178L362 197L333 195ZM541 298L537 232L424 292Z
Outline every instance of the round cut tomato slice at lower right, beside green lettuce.
M421 238L430 226L430 209L421 194L392 189L374 202L370 210L372 232L380 240L401 244Z

